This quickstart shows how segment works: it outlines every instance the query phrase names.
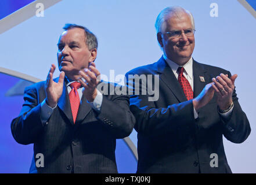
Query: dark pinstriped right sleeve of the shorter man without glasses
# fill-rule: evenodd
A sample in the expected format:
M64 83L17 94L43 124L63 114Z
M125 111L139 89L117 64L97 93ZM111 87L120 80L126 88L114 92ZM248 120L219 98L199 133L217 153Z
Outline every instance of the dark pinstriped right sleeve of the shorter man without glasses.
M131 134L135 117L129 110L128 95L103 95L102 106L97 118L102 121L111 135L125 138Z

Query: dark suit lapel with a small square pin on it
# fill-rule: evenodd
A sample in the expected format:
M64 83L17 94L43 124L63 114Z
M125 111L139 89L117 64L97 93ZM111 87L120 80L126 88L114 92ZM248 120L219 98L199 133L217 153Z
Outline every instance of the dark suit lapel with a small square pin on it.
M193 60L194 97L197 97L207 83L210 83L210 76L205 71L203 64ZM205 82L203 82L205 81Z

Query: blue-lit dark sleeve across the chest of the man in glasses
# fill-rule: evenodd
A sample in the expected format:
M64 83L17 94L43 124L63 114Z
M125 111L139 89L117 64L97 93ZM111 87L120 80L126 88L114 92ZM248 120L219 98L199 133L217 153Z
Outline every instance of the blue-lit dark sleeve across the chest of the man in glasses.
M130 109L136 117L135 129L140 134L158 136L182 131L193 131L195 127L193 102L185 101L169 105L167 108L158 108L155 101L149 101L150 95L143 95L142 90L146 89L146 83L139 81L136 86L135 80L126 74L127 86L131 95ZM137 81L138 82L138 81ZM139 94L136 88L139 87Z

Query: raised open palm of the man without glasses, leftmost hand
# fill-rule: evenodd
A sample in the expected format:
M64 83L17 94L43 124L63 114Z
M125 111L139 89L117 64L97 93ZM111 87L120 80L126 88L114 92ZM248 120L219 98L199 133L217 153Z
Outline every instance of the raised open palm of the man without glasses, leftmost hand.
M65 77L65 73L62 71L60 72L59 82L58 83L54 82L52 77L55 69L56 69L56 66L52 64L51 69L48 73L48 76L46 79L46 85L45 85L46 103L47 105L51 106L51 108L54 108L57 105L57 102L59 101L59 98L62 95L63 82Z

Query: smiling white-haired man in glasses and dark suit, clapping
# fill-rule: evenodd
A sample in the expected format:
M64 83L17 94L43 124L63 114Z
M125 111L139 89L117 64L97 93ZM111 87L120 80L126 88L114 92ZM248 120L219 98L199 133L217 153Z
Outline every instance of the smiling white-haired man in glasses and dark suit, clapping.
M236 96L237 75L193 60L194 20L187 10L164 9L156 29L163 56L126 75L138 132L137 172L231 173L222 135L241 143L251 131Z

